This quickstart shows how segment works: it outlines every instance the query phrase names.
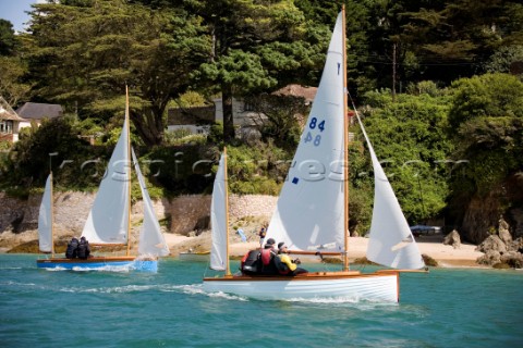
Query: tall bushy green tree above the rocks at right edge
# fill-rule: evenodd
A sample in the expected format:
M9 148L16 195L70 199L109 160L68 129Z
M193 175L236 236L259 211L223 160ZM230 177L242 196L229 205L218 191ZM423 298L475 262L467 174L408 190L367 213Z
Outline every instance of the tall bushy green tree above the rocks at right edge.
M453 159L466 165L449 181L450 217L465 238L481 243L500 215L523 207L523 84L486 74L457 80L452 91Z

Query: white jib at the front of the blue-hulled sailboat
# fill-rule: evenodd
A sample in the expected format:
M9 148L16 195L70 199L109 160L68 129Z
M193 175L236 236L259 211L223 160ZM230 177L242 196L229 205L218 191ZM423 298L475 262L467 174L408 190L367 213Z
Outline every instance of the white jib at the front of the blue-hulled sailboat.
M150 200L149 192L145 186L144 176L139 170L138 160L134 153L134 149L131 148L131 154L133 157L134 169L136 176L138 177L139 188L142 190L142 200L144 202L144 222L139 231L139 245L138 254L141 256L155 256L165 257L169 254L169 247L166 239L161 234L160 224L156 217L155 209L153 208L153 201Z

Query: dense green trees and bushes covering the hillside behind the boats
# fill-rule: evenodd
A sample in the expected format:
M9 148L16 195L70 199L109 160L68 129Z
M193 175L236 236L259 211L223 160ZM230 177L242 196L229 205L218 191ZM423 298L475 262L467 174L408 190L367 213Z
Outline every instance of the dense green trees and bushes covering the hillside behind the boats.
M13 107L57 102L70 116L32 129L2 158L1 188L41 187L52 152L59 188L96 188L127 85L133 142L156 195L209 191L223 145L232 192L277 195L307 111L302 100L271 92L290 83L318 85L342 3L349 92L409 221L450 208L459 224L467 202L494 189L502 207L521 207L523 4L516 0L35 4L27 33L14 35L0 20L0 95ZM187 100L200 105L217 96L223 123L206 138L165 135L173 100L188 108ZM254 140L235 137L233 97L265 117ZM372 166L358 126L351 132L350 226L364 234ZM81 136L95 136L97 146Z

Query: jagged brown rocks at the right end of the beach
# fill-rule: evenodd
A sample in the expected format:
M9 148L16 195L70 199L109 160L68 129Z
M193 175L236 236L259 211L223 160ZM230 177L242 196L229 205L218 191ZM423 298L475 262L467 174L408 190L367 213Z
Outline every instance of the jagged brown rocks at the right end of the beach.
M523 237L512 240L509 224L503 219L499 220L496 234L488 236L476 250L485 253L477 259L479 264L523 268Z

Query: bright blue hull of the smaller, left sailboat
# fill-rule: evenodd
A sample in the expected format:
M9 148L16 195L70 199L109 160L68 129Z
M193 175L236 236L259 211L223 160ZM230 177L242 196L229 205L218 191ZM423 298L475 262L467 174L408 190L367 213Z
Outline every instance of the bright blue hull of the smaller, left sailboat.
M136 257L95 257L82 259L39 259L36 260L38 269L57 269L73 271L158 271L158 260L139 260Z

